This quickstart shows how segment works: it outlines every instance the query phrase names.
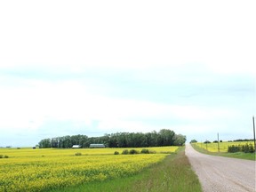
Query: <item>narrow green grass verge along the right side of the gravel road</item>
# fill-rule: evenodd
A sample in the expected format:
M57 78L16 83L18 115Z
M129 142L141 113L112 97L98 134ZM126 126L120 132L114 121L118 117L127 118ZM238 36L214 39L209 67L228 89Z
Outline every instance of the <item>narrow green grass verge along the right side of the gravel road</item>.
M226 153L226 152L210 152L205 148L200 148L196 145L192 144L192 147L196 149L196 151L204 154L208 154L211 156L227 156L231 158L240 158L255 161L255 153L244 153L244 152L236 152L236 153Z

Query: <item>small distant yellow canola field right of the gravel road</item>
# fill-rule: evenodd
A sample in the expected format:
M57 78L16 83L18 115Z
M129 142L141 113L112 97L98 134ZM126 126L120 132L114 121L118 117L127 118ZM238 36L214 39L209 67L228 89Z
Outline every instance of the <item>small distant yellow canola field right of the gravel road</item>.
M228 152L228 146L245 145L246 143L254 145L252 141L220 142L220 152ZM207 148L207 150L210 152L218 152L218 143L207 143L207 147L205 143L201 142L193 143L193 145L196 145L199 148Z

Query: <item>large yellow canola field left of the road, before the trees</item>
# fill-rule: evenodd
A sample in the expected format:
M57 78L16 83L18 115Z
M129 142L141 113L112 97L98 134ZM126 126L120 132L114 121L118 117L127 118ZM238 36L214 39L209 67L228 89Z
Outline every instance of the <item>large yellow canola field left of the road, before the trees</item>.
M140 172L178 147L148 148L156 154L113 155L122 148L0 148L0 191L47 191ZM135 148L141 150L141 148ZM82 156L75 156L79 152Z

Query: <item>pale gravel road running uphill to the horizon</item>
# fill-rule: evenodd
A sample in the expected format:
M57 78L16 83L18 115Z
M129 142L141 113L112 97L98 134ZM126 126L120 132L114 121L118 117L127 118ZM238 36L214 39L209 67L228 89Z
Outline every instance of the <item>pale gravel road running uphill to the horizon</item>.
M208 156L186 146L186 155L205 192L256 191L255 161Z

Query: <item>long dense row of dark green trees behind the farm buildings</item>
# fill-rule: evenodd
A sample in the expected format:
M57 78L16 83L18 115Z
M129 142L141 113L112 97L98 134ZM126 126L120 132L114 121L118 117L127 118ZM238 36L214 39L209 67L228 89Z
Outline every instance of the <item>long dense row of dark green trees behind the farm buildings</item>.
M89 148L92 143L102 143L107 148L147 148L162 146L182 146L186 142L186 136L175 134L172 130L162 129L159 132L116 132L100 137L88 137L86 135L72 135L40 140L39 148L72 148L80 145Z

